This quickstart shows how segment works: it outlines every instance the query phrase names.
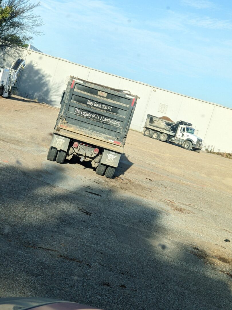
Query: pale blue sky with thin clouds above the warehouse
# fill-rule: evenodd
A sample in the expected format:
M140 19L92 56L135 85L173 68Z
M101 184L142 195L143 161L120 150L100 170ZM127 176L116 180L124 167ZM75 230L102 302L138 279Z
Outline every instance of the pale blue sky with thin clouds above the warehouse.
M232 108L230 1L41 0L36 13L46 54Z

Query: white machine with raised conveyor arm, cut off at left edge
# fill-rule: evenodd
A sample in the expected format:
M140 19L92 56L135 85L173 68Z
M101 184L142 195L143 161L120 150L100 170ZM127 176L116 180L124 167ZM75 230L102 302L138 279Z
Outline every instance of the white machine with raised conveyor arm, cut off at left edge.
M11 97L11 89L15 85L18 74L25 67L24 59L17 59L11 65L11 68L0 65L0 96L4 98Z

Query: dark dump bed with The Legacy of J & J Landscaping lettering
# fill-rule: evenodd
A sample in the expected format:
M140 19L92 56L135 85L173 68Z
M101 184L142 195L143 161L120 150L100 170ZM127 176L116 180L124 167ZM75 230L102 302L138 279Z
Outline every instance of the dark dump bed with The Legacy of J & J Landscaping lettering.
M137 96L73 76L54 133L122 153Z

